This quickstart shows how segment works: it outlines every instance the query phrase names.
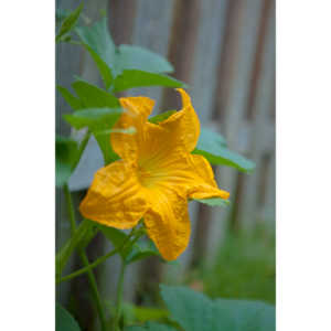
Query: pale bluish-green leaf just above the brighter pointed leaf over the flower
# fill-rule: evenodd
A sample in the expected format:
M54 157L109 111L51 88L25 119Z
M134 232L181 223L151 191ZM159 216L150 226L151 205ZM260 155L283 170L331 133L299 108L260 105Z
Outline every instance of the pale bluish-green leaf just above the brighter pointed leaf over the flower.
M131 45L118 46L115 67L118 73L124 70L139 70L150 73L173 72L173 66L163 56Z

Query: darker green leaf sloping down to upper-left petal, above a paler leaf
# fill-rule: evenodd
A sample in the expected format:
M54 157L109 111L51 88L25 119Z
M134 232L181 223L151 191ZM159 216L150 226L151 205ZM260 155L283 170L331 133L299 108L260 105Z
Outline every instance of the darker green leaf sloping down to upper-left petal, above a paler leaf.
M120 107L118 99L113 94L85 81L74 82L73 88L79 97L83 108Z

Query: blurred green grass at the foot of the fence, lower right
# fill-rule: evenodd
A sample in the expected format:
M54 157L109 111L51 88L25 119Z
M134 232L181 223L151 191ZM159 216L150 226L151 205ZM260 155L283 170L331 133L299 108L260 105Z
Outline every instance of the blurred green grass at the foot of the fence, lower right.
M204 292L212 298L276 301L275 233L266 226L253 234L228 234L215 266L201 273Z

